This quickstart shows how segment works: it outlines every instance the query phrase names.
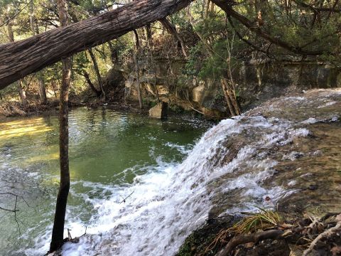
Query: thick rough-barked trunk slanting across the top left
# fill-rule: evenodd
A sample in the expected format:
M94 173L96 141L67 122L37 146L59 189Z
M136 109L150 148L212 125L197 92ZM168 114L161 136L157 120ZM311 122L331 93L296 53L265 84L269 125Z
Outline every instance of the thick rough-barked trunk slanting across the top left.
M0 90L74 53L173 14L193 0L139 0L105 14L0 45Z

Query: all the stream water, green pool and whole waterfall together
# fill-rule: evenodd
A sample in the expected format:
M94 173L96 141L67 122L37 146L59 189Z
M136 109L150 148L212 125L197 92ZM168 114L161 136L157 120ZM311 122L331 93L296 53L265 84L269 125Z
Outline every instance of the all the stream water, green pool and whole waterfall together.
M66 226L72 235L87 226L87 234L65 244L63 254L174 255L207 218L258 207L340 211L340 98L341 90L281 97L222 120L201 138L205 127L193 122L178 129L112 112L73 112ZM21 127L4 123L18 130L1 135L1 143L13 137L1 146L1 175L19 191L29 186L23 196L36 202L27 212L21 202L23 220L32 223L17 245L26 255L45 252L50 238L58 162L56 131L45 123L21 139ZM1 223L7 230L15 224ZM9 233L2 242L17 237Z

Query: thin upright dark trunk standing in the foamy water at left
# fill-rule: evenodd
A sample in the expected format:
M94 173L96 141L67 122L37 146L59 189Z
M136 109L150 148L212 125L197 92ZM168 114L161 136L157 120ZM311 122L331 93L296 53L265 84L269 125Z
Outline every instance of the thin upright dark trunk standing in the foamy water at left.
M58 0L59 18L62 26L67 26L67 4L65 0ZM59 112L59 160L60 160L60 186L58 191L57 203L55 206L55 221L53 223L52 239L50 252L54 252L63 245L65 213L67 196L70 190L70 171L69 171L69 131L68 131L68 101L69 85L71 77L71 58L62 60L63 74L62 85L60 85L60 112Z

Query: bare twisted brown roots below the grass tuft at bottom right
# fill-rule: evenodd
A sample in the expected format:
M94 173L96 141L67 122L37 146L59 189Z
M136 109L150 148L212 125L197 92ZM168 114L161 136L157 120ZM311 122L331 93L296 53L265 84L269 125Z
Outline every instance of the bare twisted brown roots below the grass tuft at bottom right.
M328 223L325 222L331 217L335 219L330 220ZM307 223L308 222L308 223ZM301 223L305 223L302 225ZM308 247L303 252L303 256L307 256L311 252L318 242L323 238L333 235L337 230L341 230L341 214L340 213L327 213L322 218L310 217L305 220L295 220L293 222L283 222L274 225L271 229L256 228L254 230L249 230L247 233L243 233L242 230L236 230L228 228L221 230L217 237L210 243L206 248L203 255L208 251L213 250L217 246L220 247L225 244L224 248L217 252L216 256L227 256L230 255L238 245L244 245L248 243L258 243L263 240L286 240L288 244L294 244L298 246ZM315 239L313 239L315 238ZM335 239L335 238L328 238ZM300 240L313 240L310 244L302 244L298 241ZM335 242L330 243L328 240L325 242L323 247L327 247L327 250L334 253L334 251L339 250L340 245L335 244ZM227 245L226 245L227 243ZM338 242L337 242L338 243ZM220 244L220 245L219 245ZM301 245L300 245L301 244ZM251 244L252 246L252 244Z

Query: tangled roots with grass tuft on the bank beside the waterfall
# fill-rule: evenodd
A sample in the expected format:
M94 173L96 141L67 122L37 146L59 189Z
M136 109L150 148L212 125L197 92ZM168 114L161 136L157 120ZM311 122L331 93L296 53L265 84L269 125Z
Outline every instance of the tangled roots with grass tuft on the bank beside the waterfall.
M336 218L332 218L335 216ZM264 245L272 246L274 243L271 240L284 240L281 243L287 248L288 245L294 245L301 251L306 249L303 252L305 256L315 247L315 250L322 250L323 253L338 255L337 253L341 252L340 235L336 235L339 230L341 230L340 213L328 213L322 218L308 217L286 222L274 211L261 210L261 213L249 215L231 228L221 230L201 255L211 255L217 250L220 251L216 256L239 255L240 250L246 252L259 250ZM280 250L284 248L281 247ZM290 249L288 250L290 252Z

